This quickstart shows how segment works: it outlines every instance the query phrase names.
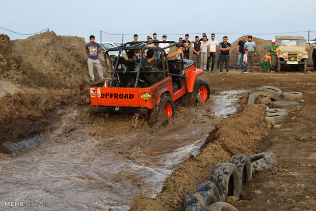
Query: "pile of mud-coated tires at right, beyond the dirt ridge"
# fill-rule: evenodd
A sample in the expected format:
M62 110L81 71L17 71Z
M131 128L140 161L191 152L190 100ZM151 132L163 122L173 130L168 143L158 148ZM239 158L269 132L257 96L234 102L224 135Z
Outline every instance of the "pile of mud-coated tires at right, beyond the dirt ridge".
M261 96L260 102L271 104L274 109L267 109L266 120L267 122L281 123L288 119L288 112L286 109L293 109L299 105L295 101L273 101L282 97L285 100L298 100L303 97L301 92L282 92L277 87L263 86L256 89L256 92L251 93L248 98L247 104L255 104Z

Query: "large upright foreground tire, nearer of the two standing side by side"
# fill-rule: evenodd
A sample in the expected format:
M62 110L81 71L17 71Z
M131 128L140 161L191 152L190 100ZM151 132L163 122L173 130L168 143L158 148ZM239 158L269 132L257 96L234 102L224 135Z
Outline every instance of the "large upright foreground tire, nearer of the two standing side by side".
M216 184L222 201L226 202L228 196L234 196L239 200L239 176L237 167L234 164L217 164L214 167L209 180Z

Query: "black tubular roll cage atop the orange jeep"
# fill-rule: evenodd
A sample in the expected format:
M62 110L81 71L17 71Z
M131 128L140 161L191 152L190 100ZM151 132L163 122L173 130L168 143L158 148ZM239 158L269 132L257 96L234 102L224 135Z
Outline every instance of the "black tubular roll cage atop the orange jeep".
M146 43L146 45L144 43ZM148 44L151 44L151 43L173 43L173 44L171 44L169 46L166 46L164 48L157 47L157 46L147 46ZM133 44L133 45L130 46L130 44ZM129 46L127 46L127 45L129 45ZM134 86L134 88L136 88L137 85L138 85L138 80L139 80L140 73L142 73L142 72L146 72L146 73L159 73L159 72L161 72L161 73L163 73L163 78L166 78L166 77L169 76L169 74L171 74L171 73L169 73L168 57L167 57L167 53L166 53L165 49L173 47L173 46L180 47L179 44L177 42L175 42L175 41L154 41L154 40L152 40L152 41L149 41L149 42L126 42L125 44L123 44L121 46L110 48L106 52L104 52L104 56L106 57L105 58L106 66L108 67L107 57L109 57L109 52L110 51L119 51L119 54L118 54L117 58L120 58L120 56L122 55L122 51L123 50L126 52L126 55L127 55L127 51L128 50L134 50L134 51L135 50L141 50L140 60L139 60L139 62L135 62L138 65L138 67L139 67L138 70L137 71L129 71L129 72L137 73L136 74L136 82L135 82L135 86ZM153 70L150 70L150 71L142 71L141 70L141 68L143 67L142 66L142 60L145 59L144 58L144 52L145 52L145 50L149 50L149 49L153 49L155 51L159 51L161 53L161 55L163 55L163 57L165 58L165 61L162 62L162 66L163 66L162 70L156 70L155 68L153 68ZM180 58L181 58L182 67L184 67L182 54L180 54ZM112 61L110 60L110 63L111 62ZM120 72L120 70L118 70L119 59L116 59L116 61L113 62L113 63L115 63L115 64L110 65L111 69L112 69L112 75L111 75L111 81L110 81L110 86L109 87L112 87L114 77L116 76L116 74L118 72Z

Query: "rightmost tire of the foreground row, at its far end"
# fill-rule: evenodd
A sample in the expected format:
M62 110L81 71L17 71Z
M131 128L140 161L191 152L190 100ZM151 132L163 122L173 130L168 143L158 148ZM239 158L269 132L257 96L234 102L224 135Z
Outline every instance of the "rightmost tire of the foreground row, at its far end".
M262 152L249 156L252 167L252 175L262 171L269 170L276 166L276 159L272 152Z

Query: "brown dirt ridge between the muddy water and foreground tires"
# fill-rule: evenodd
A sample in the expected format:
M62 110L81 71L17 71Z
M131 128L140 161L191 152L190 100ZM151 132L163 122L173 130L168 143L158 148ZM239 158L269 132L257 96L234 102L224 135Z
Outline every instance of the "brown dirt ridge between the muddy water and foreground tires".
M156 210L179 210L181 198L195 192L200 183L209 180L217 163L228 162L233 154L251 155L259 152L262 139L268 136L270 130L262 112L264 106L244 105L238 113L219 123L208 135L201 153L180 164L166 179L156 198L136 196L130 210L149 210L147 207L155 205L160 205Z

